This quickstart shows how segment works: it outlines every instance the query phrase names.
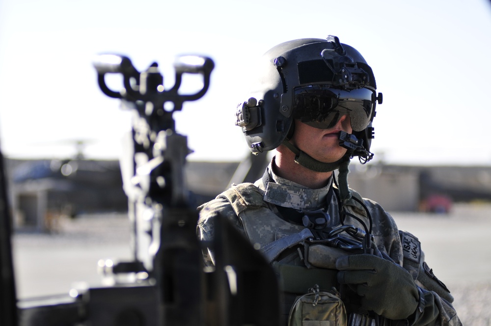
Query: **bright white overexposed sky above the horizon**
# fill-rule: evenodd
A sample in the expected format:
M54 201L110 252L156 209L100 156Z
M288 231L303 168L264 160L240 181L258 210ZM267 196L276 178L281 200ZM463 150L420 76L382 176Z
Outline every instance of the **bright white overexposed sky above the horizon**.
M490 31L488 0L0 0L0 147L69 158L82 140L87 158L118 159L130 114L100 91L94 56L126 55L139 71L158 62L170 87L174 57L201 54L216 64L211 86L175 114L177 131L190 160L242 160L235 111L254 60L336 35L383 93L375 161L490 165Z

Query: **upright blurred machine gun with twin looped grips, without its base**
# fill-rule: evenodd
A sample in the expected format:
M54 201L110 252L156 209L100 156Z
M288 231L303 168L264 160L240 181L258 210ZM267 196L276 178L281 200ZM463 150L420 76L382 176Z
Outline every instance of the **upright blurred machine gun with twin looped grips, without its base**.
M157 63L140 73L128 57L103 54L96 58L94 67L101 90L133 111L133 150L126 158L130 175L123 175L123 183L134 227L134 261L117 263L110 269L157 285L158 301L167 303L161 311L166 319L199 325L203 294L200 249L194 236L197 215L188 204L183 170L190 150L187 137L176 133L173 113L181 110L184 102L206 93L214 63L207 57L178 57L175 84L169 90L164 89ZM106 85L105 76L111 73L122 75L121 90L113 91ZM183 74L200 74L202 88L194 94L180 94Z

